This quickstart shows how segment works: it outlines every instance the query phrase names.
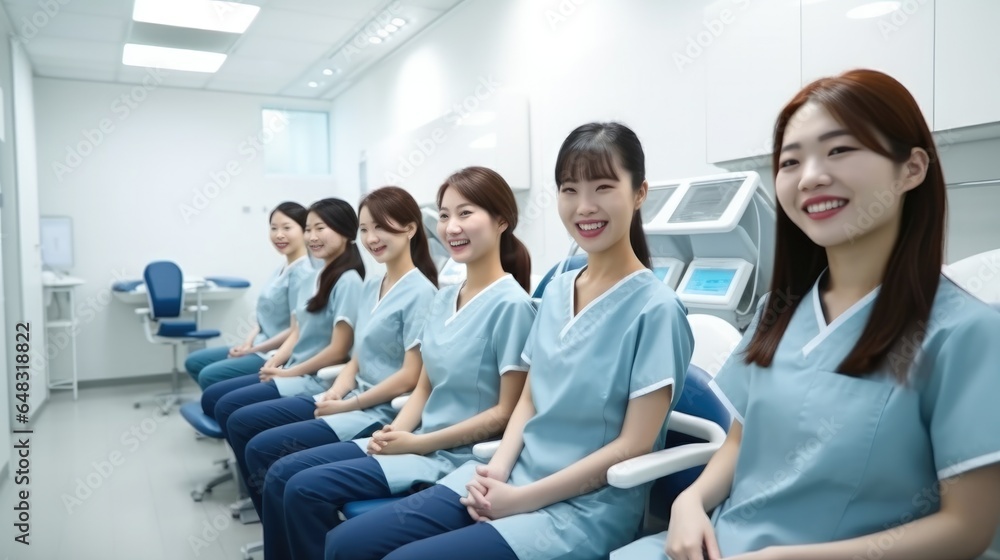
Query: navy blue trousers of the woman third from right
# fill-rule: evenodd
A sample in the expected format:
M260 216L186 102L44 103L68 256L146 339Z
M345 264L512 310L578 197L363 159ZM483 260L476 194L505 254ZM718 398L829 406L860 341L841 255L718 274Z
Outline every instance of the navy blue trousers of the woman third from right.
M390 495L378 461L353 442L287 455L264 482L264 557L322 558L326 534L340 524L344 504Z

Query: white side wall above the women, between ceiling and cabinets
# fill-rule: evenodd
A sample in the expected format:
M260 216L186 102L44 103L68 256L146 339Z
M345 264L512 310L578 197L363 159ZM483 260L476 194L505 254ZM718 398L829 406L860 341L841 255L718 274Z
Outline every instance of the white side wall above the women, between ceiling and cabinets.
M705 4L469 0L335 100L337 185L358 188L366 146L471 102L484 82L525 93L532 188L518 195L517 235L542 274L569 247L552 174L559 145L576 126L615 119L632 127L650 180L718 170L705 163L703 61L678 69L673 60L702 29Z

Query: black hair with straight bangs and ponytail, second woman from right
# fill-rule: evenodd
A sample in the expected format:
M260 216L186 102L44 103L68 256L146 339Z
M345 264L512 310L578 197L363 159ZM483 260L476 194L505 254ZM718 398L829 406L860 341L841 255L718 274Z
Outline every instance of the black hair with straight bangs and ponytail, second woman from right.
M639 137L629 127L616 122L587 123L569 133L556 156L556 188L566 182L619 180L615 160L632 176L632 190L638 192L646 181L646 155ZM632 251L646 268L653 268L646 232L639 210L629 228Z

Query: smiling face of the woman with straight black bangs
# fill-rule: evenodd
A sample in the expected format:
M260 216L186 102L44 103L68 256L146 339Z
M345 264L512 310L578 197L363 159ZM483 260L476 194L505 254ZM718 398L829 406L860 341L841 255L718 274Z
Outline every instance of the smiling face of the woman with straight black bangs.
M632 189L632 174L617 158L612 161L617 179L581 179L559 186L559 217L573 240L589 254L628 242L632 217L646 197L648 185Z

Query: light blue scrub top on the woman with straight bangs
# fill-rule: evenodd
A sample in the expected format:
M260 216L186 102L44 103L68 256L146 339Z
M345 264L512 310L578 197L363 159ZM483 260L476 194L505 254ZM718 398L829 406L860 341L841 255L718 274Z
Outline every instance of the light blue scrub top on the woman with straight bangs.
M551 281L524 350L535 416L509 482L565 469L621 434L629 401L673 386L680 397L694 347L686 310L650 270L619 281L575 316L580 271ZM661 449L666 430L654 445ZM475 464L440 483L459 495ZM520 560L597 559L635 537L648 485L603 485L542 510L490 521Z

